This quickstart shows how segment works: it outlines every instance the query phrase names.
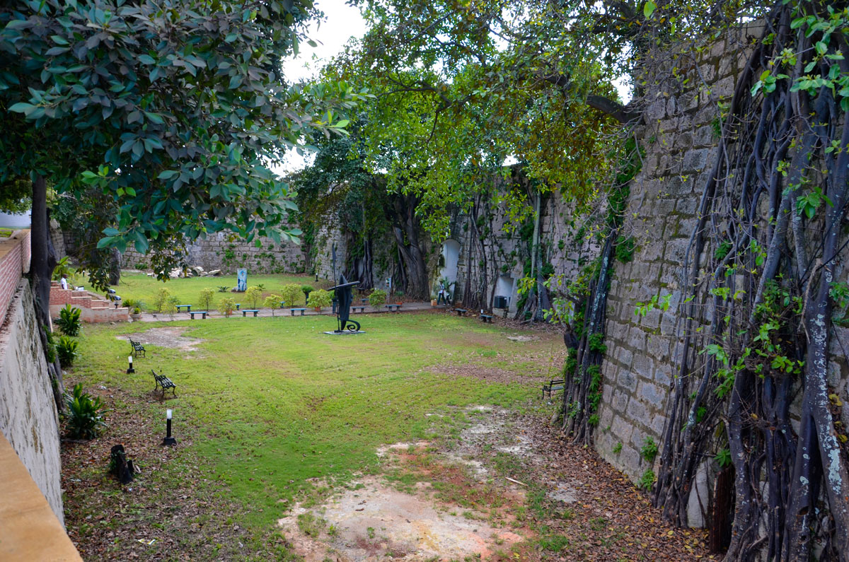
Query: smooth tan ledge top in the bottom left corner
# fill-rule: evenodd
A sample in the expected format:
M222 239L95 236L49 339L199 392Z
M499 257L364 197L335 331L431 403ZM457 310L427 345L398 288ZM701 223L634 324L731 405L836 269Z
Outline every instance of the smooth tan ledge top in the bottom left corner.
M47 499L0 433L0 560L81 560Z

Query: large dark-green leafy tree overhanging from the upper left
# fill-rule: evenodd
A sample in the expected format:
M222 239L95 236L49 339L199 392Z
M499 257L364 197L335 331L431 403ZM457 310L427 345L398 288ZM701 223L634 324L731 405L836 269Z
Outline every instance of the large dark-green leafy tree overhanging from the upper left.
M281 227L294 204L268 166L307 132L340 132L336 111L359 97L281 76L314 15L311 0L3 4L0 183L31 179L42 324L56 262L48 183L93 211L104 236L82 258L95 273L109 247L152 251L164 276L188 239L297 234ZM58 366L53 377L59 389Z

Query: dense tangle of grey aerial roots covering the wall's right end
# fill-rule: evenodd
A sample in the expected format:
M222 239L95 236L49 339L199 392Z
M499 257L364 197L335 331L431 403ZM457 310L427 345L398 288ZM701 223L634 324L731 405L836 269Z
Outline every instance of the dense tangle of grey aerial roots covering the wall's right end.
M654 502L686 524L713 458L731 483L714 500L733 506L728 560L849 559L849 447L828 377L846 306L847 30L844 5L771 7L686 254Z

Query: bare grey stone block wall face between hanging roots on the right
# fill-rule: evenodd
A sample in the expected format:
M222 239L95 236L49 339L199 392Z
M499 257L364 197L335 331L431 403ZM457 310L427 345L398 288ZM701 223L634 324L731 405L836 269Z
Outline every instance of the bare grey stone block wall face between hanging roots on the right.
M666 423L666 397L680 352L676 328L685 315L684 258L717 154L719 104L732 97L745 65L745 35L729 34L698 59L671 63L689 69L692 86L651 87L638 131L645 155L633 179L624 226L637 247L633 261L614 266L595 440L602 457L634 481L653 468L640 458L640 448L647 437L661 443ZM635 316L637 303L655 295L672 295L669 309Z

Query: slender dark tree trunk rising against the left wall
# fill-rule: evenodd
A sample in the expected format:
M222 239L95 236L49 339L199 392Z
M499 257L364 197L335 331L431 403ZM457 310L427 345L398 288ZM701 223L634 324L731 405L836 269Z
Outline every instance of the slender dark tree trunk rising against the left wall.
M44 178L37 176L32 182L30 279L39 323L38 331L42 348L46 353L50 345L46 331L50 326L50 278L53 276L57 261L53 242L50 240L47 191ZM62 400L65 389L62 386L62 368L59 366L58 359L54 359L53 362L48 360L48 376L53 388L53 400L61 412L65 408L65 402Z

